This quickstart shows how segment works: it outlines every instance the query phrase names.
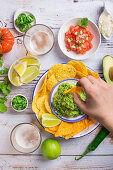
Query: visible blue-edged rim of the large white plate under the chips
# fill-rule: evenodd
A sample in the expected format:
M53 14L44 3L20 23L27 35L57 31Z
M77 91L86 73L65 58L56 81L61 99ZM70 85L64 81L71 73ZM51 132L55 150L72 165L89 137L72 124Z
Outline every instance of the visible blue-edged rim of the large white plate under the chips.
M90 68L89 68L90 69ZM33 90L33 95L32 95L32 100L34 98L34 96L38 93L39 89L41 88L43 82L44 82L44 79L45 79L45 76L47 74L48 70L39 78L39 80L37 81L35 87L34 87L34 90ZM39 118L38 118L38 115L35 114L35 117L36 119L38 120L38 122L40 123L39 121ZM41 124L41 123L40 123ZM94 122L92 123L89 128L86 128L84 130L82 130L81 132L77 133L76 135L74 135L73 137L71 137L71 139L76 139L76 138L80 138L82 136L86 136L88 135L89 133L93 132L100 124L98 122ZM63 137L61 137L63 138Z

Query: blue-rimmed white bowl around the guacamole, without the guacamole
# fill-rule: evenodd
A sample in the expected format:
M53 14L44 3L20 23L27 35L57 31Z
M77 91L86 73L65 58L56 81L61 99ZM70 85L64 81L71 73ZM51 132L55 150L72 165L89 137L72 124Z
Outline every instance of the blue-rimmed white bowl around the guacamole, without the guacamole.
M55 95L55 93L57 92L58 90L58 87L63 84L63 83L69 83L69 84L75 84L77 83L77 79L74 79L74 78L70 78L70 79L65 79L65 80L62 80L60 81L59 83L56 84L56 86L53 88L53 90L51 91L51 94L50 94L50 106L51 106L51 109L52 109L52 112L61 120L63 121L66 121L66 122L77 122L77 121L80 121L82 119L84 119L86 117L86 114L83 114L83 115L79 115L79 116L76 116L76 117L60 117L58 116L57 114L57 111L54 110L53 108L53 105L52 105L52 102L53 102L53 97Z

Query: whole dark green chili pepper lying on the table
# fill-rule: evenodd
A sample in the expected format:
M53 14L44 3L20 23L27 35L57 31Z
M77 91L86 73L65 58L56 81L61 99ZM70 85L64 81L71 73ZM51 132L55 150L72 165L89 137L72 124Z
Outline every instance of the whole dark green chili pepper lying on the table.
M95 137L95 139L88 145L88 148L86 149L86 151L83 153L83 155L75 160L80 160L81 158L83 158L88 152L90 151L94 151L98 145L105 139L105 137L109 134L110 132L105 128L102 127L102 129L100 130L100 132L97 134L97 136Z

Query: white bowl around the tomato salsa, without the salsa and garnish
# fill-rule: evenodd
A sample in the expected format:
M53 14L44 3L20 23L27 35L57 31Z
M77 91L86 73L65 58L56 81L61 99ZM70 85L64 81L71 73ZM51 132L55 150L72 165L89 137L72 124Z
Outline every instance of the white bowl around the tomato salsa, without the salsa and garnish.
M84 60L89 58L92 54L94 54L100 46L101 43L101 35L98 27L94 22L88 20L88 28L90 29L91 33L94 35L92 40L93 48L86 52L86 54L77 54L75 51L67 51L66 43L64 41L65 33L69 30L70 26L78 25L78 21L82 18L74 18L62 25L58 33L58 44L61 51L69 58L74 60Z

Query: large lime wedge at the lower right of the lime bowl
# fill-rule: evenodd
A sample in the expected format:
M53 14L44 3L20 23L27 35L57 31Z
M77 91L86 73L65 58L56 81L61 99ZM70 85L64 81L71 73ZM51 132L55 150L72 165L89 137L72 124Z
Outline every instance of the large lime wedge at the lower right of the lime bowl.
M20 81L23 83L28 83L32 81L38 76L39 71L39 68L37 68L36 66L27 67L24 74L20 77Z

